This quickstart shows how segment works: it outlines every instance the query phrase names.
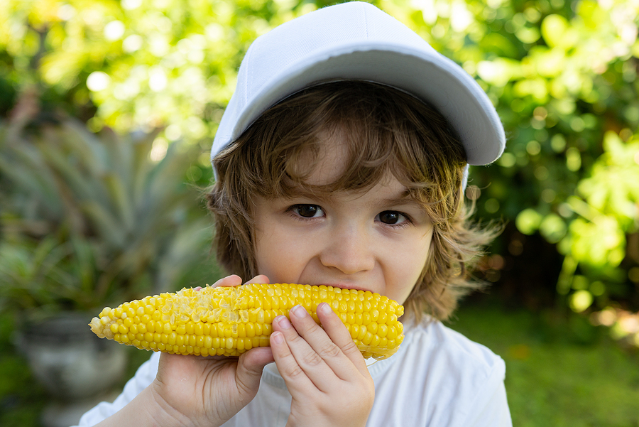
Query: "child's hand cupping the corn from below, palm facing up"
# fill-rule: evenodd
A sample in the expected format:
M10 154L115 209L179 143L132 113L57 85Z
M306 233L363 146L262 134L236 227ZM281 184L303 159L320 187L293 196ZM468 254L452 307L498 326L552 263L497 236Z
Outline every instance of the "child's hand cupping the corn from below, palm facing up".
M251 283L268 283L257 276ZM214 286L237 286L239 276L228 276ZM153 382L156 404L177 425L220 426L255 397L266 364L273 362L270 347L254 348L238 357L160 355Z

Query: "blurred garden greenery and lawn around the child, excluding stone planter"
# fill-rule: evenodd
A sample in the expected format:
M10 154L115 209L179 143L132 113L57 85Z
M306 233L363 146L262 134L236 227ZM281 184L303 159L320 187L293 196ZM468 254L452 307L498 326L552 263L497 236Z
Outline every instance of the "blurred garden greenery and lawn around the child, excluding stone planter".
M237 67L327 4L0 1L2 426L58 402L21 330L222 274L202 189ZM505 224L474 271L491 286L449 325L506 360L515 426L639 426L639 1L373 4L474 76L508 135L466 192Z

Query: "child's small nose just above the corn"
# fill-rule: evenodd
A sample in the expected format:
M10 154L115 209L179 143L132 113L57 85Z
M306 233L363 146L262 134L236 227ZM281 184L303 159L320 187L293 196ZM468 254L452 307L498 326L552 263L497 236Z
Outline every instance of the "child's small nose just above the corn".
M344 227L335 230L322 249L320 260L324 266L334 267L344 274L368 271L375 265L371 244L364 229Z

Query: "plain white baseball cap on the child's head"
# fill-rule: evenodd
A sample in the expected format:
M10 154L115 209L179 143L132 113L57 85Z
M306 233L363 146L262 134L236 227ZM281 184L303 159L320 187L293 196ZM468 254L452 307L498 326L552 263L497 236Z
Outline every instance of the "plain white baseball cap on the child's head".
M371 4L353 1L312 11L256 38L242 60L211 158L269 107L331 80L368 80L413 94L437 109L470 165L496 161L503 126L484 90L417 33Z

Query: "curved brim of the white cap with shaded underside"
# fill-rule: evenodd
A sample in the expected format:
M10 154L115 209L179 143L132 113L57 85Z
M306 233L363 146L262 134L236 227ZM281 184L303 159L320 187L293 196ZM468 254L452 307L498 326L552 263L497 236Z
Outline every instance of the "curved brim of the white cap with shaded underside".
M470 165L492 163L506 146L503 126L490 99L459 65L435 50L379 42L318 52L312 60L271 76L237 117L230 139L236 139L273 104L326 80L378 82L431 104L457 131Z

